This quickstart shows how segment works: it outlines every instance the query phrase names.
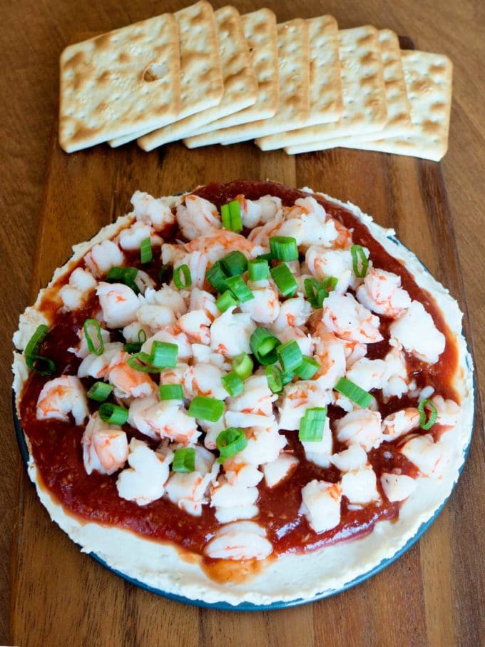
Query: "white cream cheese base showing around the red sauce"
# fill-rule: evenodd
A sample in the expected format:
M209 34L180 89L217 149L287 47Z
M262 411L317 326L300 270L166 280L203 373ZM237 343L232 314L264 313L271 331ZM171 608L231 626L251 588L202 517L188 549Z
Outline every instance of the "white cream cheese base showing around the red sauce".
M310 189L304 190L311 192ZM319 194L325 195L325 194ZM182 196L169 198L175 205ZM380 521L373 531L362 539L327 546L308 554L287 554L277 559L268 559L262 569L242 584L218 584L205 575L198 560L184 559L180 550L170 544L150 541L131 531L82 521L66 513L51 494L44 489L33 459L29 461L29 477L36 485L39 498L53 521L68 536L81 546L83 552L94 553L112 569L121 571L160 592L184 596L205 603L225 602L232 605L253 603L269 605L275 602L290 602L296 599L310 600L326 591L338 591L345 584L367 574L383 560L390 559L412 539L424 522L434 516L446 501L464 462L466 449L471 439L474 415L473 365L461 332L462 314L456 301L439 282L427 272L416 256L404 245L389 238L394 231L385 230L373 223L369 215L362 213L351 203L342 203L325 195L327 200L346 208L359 218L374 238L394 257L402 261L412 273L419 287L427 290L439 306L446 324L456 338L459 352L459 370L455 388L461 396L461 412L456 427L441 437L449 447L451 457L444 474L439 479L420 478L417 489L399 511L397 521ZM103 228L95 238L73 248L71 260L53 275L49 286L66 272L71 271L80 258L96 243L112 238L119 230L133 222L128 214L116 223ZM48 287L49 287L48 286ZM48 289L48 288L46 288ZM39 292L39 304L44 290ZM27 308L21 315L19 330L14 335L14 344L21 350L39 323L48 323L36 305ZM28 375L21 353L14 353L14 391L19 399L21 387ZM28 442L28 439L27 439Z

